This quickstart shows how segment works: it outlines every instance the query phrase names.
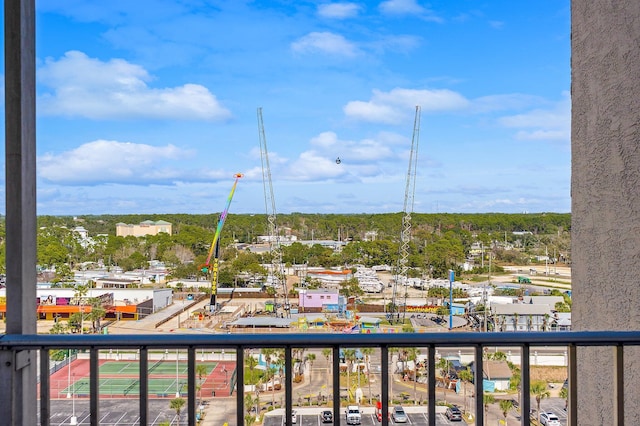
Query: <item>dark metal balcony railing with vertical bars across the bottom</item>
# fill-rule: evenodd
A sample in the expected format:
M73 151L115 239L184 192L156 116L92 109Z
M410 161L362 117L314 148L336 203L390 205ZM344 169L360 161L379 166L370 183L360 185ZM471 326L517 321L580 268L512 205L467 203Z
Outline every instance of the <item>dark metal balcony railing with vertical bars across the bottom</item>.
M138 350L139 351L139 416L140 424L149 423L148 378L149 351L182 349L187 352L187 415L188 423L197 423L196 392L196 356L199 350L225 349L235 351L236 365L244 365L246 349L281 348L284 350L284 365L292 365L292 350L296 348L331 348L332 349L332 395L334 424L339 425L341 418L340 401L340 369L341 348L377 348L381 355L382 372L389 371L389 348L419 347L427 349L427 389L429 425L436 424L436 349L441 348L473 348L475 377L482 377L483 353L485 348L519 347L521 350L521 389L530 387L530 350L536 347L564 347L568 353L568 419L570 425L576 425L578 377L576 374L577 351L582 346L601 346L614 348L612 365L614 365L615 407L618 419L624 419L624 373L623 356L625 346L640 345L640 331L636 332L566 332L566 333L398 333L398 334L216 334L216 335L4 335L0 337L0 349L14 353L16 364L30 362L36 357L30 352L39 351L40 360L40 424L50 424L50 349L82 349L89 351L90 389L89 408L90 422L99 424L99 353L101 350ZM19 368L19 365L16 365ZM293 410L293 372L285 368L285 422L291 424ZM389 375L381 374L382 413L388 412ZM244 369L237 368L236 381L236 424L243 425L244 420ZM483 395L483 381L475 380L474 392ZM36 400L34 395L33 400ZM483 398L475 398L475 424L484 423ZM521 413L530 412L530 398L521 398ZM34 407L35 408L35 407ZM387 426L389 420L383 416L382 425ZM521 424L530 424L528 415L521 416Z

